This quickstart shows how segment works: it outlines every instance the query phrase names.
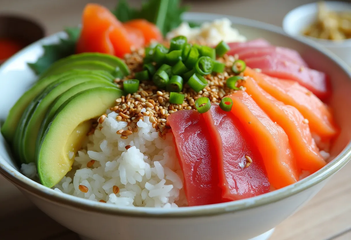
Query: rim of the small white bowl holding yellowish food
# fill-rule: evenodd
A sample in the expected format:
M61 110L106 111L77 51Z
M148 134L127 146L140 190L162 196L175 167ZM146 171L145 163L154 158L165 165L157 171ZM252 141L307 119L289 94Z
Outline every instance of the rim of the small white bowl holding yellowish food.
M324 1L324 3L326 5L330 5L330 6L345 6L345 5L348 5L348 6L350 6L350 9L351 9L351 3L350 2ZM308 3L308 4L300 5L300 6L296 7L296 8L294 8L294 9L290 10L284 16L283 21L282 21L282 27L284 29L284 32L286 32L290 36L302 36L304 38L311 39L311 40L313 40L315 42L318 42L319 44L322 44L325 47L350 47L351 46L351 38L345 39L345 40L342 40L342 41L335 41L335 40L314 38L314 37L305 36L305 35L302 35L302 34L296 35L296 34L291 34L290 33L290 28L288 27L288 22L290 21L291 16L294 15L295 13L297 13L297 12L300 12L304 8L311 8L311 7L316 6L317 4L318 4L318 2L311 2L311 3ZM304 27L306 27L306 26L304 26Z

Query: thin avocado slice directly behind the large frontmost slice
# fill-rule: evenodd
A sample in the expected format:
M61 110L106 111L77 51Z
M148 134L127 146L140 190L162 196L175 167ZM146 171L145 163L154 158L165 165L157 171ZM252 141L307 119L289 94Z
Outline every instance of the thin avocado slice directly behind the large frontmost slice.
M35 144L35 149L36 149L35 153L38 153L40 142L44 135L44 132L47 126L49 125L49 123L51 122L51 120L53 119L53 117L55 116L57 109L59 109L59 107L62 104L64 104L65 101L67 101L75 94L94 87L116 87L116 85L113 84L112 82L92 80L92 81L82 82L81 84L75 85L71 87L68 91L58 96L55 99L55 101L49 106L48 111L46 112L46 115L41 123L40 130L37 136L37 143ZM37 159L37 156L35 156L35 159Z

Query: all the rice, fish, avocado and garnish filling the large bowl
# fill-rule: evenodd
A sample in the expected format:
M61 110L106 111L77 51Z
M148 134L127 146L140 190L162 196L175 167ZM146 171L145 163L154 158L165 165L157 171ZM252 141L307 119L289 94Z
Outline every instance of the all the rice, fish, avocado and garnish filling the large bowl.
M31 64L39 79L1 127L25 175L79 198L167 208L264 194L330 161L330 79L298 52L247 41L228 19L191 29L120 11L88 4L82 28L50 46L75 52Z

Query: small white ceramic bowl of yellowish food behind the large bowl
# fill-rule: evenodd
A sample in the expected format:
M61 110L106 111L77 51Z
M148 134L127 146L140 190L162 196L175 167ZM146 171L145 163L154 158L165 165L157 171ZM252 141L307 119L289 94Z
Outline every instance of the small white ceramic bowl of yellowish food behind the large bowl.
M332 11L351 11L351 3L349 2L325 1L325 4L327 9ZM284 31L292 36L302 35L303 30L316 20L317 10L316 2L293 9L284 17L282 24ZM312 37L306 38L312 39L351 65L351 39L337 42Z

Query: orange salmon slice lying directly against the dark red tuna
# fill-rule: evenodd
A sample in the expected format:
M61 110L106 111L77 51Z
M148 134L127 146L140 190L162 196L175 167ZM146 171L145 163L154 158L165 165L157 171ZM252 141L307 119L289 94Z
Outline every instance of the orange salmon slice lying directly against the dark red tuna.
M237 91L229 97L233 100L231 113L261 153L270 184L278 189L295 183L300 171L284 130L246 92Z

